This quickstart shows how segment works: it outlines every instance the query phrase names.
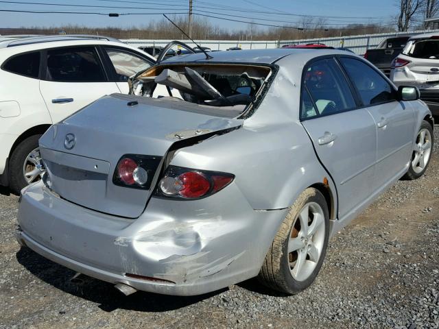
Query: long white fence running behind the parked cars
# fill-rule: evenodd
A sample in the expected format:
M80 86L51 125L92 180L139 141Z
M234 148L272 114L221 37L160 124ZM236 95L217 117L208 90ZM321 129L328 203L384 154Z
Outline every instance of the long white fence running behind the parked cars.
M355 53L363 54L367 49L373 49L385 38L392 36L400 36L403 34L421 34L427 32L439 32L439 29L431 29L424 31L415 31L408 33L381 33L381 34L366 34L361 36L340 36L331 38L313 38L313 39L296 39L296 40L267 40L267 41L250 41L250 40L195 40L202 47L209 47L212 50L226 50L230 47L241 47L242 49L273 49L282 47L283 45L297 45L299 43L313 43L319 42L331 47L345 47L355 51ZM135 47L140 46L161 46L164 47L171 40L143 40L143 39L125 39L121 40L128 45ZM193 42L189 40L182 40L189 46L194 47Z

